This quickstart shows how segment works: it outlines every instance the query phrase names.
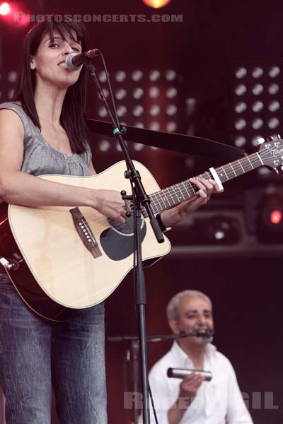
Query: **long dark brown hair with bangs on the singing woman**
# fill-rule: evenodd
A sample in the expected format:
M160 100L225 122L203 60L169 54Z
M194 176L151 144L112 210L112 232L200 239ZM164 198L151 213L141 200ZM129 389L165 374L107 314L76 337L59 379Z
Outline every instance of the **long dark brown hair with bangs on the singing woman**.
M59 33L63 40L66 40L66 37L74 40L75 33L76 42L81 44L82 50L86 49L85 30L81 24L74 21L56 22L53 17L51 20L35 24L25 36L23 56L12 101L21 102L23 110L39 129L41 129L40 121L34 100L35 71L30 69L30 57L35 56L42 37L49 34L52 40L55 31ZM83 67L78 81L67 89L60 117L60 123L67 132L73 153L86 151L86 117L84 112L86 78L86 68Z

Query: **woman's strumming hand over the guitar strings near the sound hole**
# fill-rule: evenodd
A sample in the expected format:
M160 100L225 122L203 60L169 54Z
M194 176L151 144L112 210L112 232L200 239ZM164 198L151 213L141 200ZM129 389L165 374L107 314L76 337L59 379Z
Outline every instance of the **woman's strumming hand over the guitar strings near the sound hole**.
M103 215L125 223L126 207L120 192L115 190L96 190L96 200L93 208Z

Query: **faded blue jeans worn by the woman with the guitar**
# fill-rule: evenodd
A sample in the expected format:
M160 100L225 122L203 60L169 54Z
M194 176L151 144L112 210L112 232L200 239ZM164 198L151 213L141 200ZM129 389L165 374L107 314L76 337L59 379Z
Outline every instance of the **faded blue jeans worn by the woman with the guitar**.
M50 324L0 274L0 384L6 424L106 424L104 304Z

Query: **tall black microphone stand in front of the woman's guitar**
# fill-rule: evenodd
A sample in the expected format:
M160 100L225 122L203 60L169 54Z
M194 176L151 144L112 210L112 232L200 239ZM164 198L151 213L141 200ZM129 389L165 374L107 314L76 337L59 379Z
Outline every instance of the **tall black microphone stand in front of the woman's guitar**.
M103 59L103 54L101 54ZM103 59L103 64L105 66L105 61ZM144 190L144 186L141 183L141 176L139 172L135 169L132 159L129 156L129 152L127 151L126 143L122 136L122 131L112 117L110 109L108 107L107 100L105 99L105 95L103 93L102 88L100 87L100 83L98 81L98 77L96 76L96 68L93 64L88 65L91 70L91 76L93 77L98 91L100 93L100 97L103 100L105 105L105 109L108 112L108 116L110 117L112 123L113 134L115 138L119 141L122 153L125 157L125 162L127 164L127 171L125 171L125 178L128 178L133 187L132 196L127 196L127 194L122 193L123 200L132 200L134 204L134 240L136 241L136 245L134 246L134 252L137 254L137 266L134 266L134 285L137 288L137 298L136 305L138 310L138 320L139 320L139 343L141 346L141 381L142 381L142 392L143 392L143 422L144 424L150 424L149 421L149 387L148 387L148 370L147 370L147 354L146 354L146 318L145 318L145 305L146 305L146 289L145 289L145 281L144 281L144 271L142 266L142 254L141 254L141 205L144 206L147 215L149 216L149 221L151 224L151 228L154 231L154 235L156 236L156 240L158 243L162 243L164 241L163 233L161 232L161 228L159 226L158 220L156 220L154 216L154 212L152 211L150 205L150 199L148 194L146 194ZM105 73L108 77L108 71L105 66ZM108 81L109 82L109 81ZM109 82L110 86L110 82ZM110 87L111 93L111 87ZM112 99L113 107L114 100ZM116 115L117 119L117 115Z

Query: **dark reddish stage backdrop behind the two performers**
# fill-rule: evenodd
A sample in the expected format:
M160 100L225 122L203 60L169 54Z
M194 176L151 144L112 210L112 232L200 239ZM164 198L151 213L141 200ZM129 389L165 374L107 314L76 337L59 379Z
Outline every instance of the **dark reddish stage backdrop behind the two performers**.
M268 114L267 105L273 98L270 98L270 81L267 80L262 83L260 97L265 102L265 114L260 115L263 126L253 129L255 114L250 112L245 115L246 126L241 131L235 127L239 117L235 112L235 90L241 83L235 79L236 70L245 68L248 72L248 80L244 80L247 96L252 96L253 86L258 81L250 76L256 67L266 74L272 66L277 66L279 75L283 73L282 1L171 0L158 11L148 8L141 0L121 0L115 4L110 0L85 1L83 6L74 0L29 0L22 2L20 7L31 13L181 14L183 21L178 23L86 23L88 45L102 49L115 90L129 90L125 98L127 114L122 120L131 125L142 123L145 127L157 120L165 130L172 128L166 125L173 121L174 131L231 145L238 134L245 137L242 147L249 152L255 151L251 143L254 135L266 136L282 130L281 106L276 114L279 124L274 128L268 126L270 117L275 114ZM13 89L13 72L26 29L0 19L0 87L1 101L4 101ZM99 61L96 66L100 71ZM154 119L149 114L153 102L149 96L141 101L144 107L141 116L135 117L132 113L136 104L132 99L131 75L137 69L146 76L139 83L145 93L150 86L158 86L160 96L156 102L161 112ZM149 74L156 70L161 76L155 83L149 79ZM177 112L172 116L164 112L167 104L165 107L163 103L163 92L171 84L166 80L166 72L171 70L176 73L173 85L178 90L172 100ZM123 87L116 81L117 71L126 72ZM275 97L280 103L283 86L279 77L276 81L279 90ZM258 98L245 99L251 105ZM100 116L99 108L96 90L89 86L88 117L107 120ZM90 141L98 172L121 160L113 141L97 135L90 136ZM133 158L149 167L161 187L229 161L229 158L226 161L191 158L151 148L139 151L131 143L129 147ZM212 298L216 326L214 343L235 367L239 385L249 399L250 413L257 424L282 422L283 230L280 224L274 232L260 215L265 197L270 199L270 194L276 196L277 206L283 212L282 193L282 175L277 176L275 172L260 174L255 171L227 183L224 194L216 196L196 214L199 222L187 220L185 225L168 233L173 241L171 254L146 271L149 334L169 332L165 308L179 290L203 290ZM264 228L269 237L267 243L259 240ZM205 229L207 234L203 235ZM224 239L212 237L214 230L221 230ZM200 238L202 243L197 244ZM106 336L137 334L130 275L105 305ZM168 351L170 344L149 344L149 367ZM130 368L125 378L123 365L127 347L125 343L106 343L110 424L129 423L131 418L123 408L125 388L131 391ZM264 402L265 396L266 399L273 396L272 402ZM57 423L53 407L52 424Z

